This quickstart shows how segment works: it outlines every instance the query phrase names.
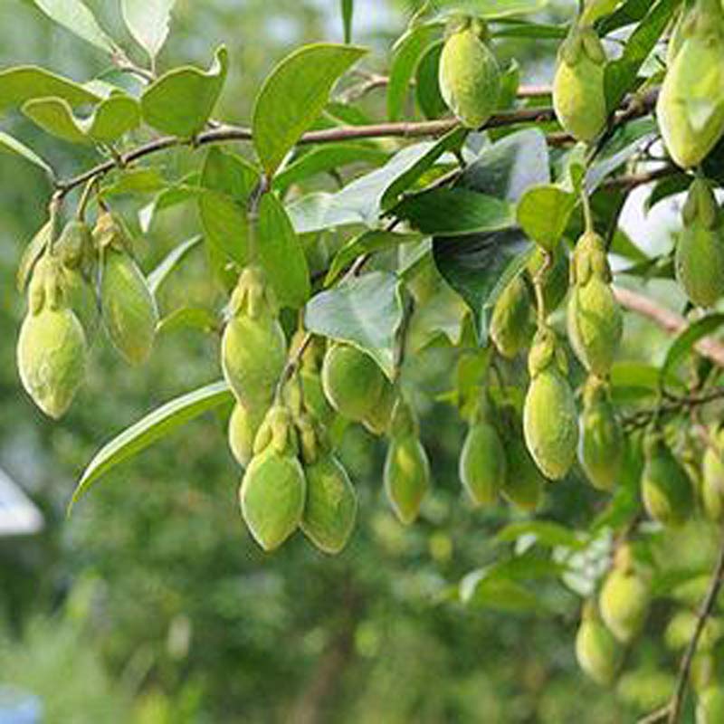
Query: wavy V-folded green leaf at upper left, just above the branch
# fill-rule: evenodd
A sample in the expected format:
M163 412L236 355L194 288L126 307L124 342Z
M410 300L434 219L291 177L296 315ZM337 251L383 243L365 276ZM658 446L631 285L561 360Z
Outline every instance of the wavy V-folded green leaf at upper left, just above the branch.
M113 143L141 120L138 100L118 94L102 100L94 113L85 119L73 115L71 106L62 98L28 100L24 114L40 128L71 143Z

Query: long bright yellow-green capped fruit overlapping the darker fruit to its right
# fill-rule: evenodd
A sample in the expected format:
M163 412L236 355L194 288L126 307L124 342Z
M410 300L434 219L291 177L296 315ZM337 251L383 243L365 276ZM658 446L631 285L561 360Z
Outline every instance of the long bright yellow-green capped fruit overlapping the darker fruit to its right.
M539 330L529 355L531 379L523 406L523 430L533 460L551 480L563 478L570 470L578 444L576 401L561 356L555 333Z

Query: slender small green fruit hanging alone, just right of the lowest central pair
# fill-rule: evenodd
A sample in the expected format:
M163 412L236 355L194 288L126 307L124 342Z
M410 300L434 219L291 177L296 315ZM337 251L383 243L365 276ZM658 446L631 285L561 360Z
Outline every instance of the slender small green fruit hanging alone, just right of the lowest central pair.
M397 519L414 522L430 487L430 463L418 437L412 409L400 399L390 424L391 438L385 460L385 491Z

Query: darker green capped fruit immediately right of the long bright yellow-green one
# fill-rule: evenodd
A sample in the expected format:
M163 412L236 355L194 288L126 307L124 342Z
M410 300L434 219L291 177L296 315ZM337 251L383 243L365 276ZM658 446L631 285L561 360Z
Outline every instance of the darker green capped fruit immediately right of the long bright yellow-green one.
M612 491L624 462L625 442L608 389L590 377L580 418L578 460L588 480L601 491Z

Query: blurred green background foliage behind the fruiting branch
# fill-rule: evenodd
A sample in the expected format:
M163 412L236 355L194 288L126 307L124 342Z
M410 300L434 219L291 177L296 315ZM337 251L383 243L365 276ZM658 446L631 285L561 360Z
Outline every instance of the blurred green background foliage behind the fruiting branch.
M89 5L117 38L128 39L115 2ZM373 46L371 64L380 71L408 5L357 2L356 40ZM551 7L548 19L560 20L573 3ZM174 17L161 67L207 65L214 47L226 43L233 64L217 115L239 122L248 120L259 83L281 56L300 43L341 37L333 0L178 0ZM554 52L555 43L516 41L523 77L546 81ZM510 57L512 47L500 54ZM110 71L30 0L4 0L0 66L21 63L79 81ZM383 94L367 102L381 114ZM19 115L4 122L63 175L90 162ZM188 151L157 163L170 177L194 168ZM645 709L667 695L671 681L661 670L673 671L675 660L655 640L633 655L640 681L626 684L628 703L584 678L573 648L580 602L559 583L538 583L541 610L458 601L462 576L506 555L510 547L494 534L516 513L475 511L462 498L464 427L431 395L419 406L434 491L411 529L395 521L381 495L384 450L361 429L348 430L341 454L357 482L361 515L338 558L300 537L273 556L253 544L237 508L239 472L223 414L206 415L121 466L65 519L74 480L100 443L169 397L213 380L218 367L215 340L194 331L162 336L141 370L124 367L99 338L71 413L58 424L42 417L15 371L24 301L14 270L43 221L48 193L42 174L0 158L0 466L46 519L39 536L0 538L0 682L39 695L48 722L612 724L632 720L636 699L645 699L638 702ZM124 204L133 218L138 199ZM160 216L138 240L147 269L195 227L183 207ZM173 309L180 300L223 301L200 255L167 284L161 303ZM637 344L627 353L641 354L644 334L647 354L661 348L655 330L636 325ZM415 358L411 385L443 394L451 365L449 349L433 347ZM544 513L565 511L569 522L583 524L596 504L586 486L565 486L552 492ZM703 550L706 535L700 528L678 534L667 555ZM664 614L654 611L652 631L661 631Z

